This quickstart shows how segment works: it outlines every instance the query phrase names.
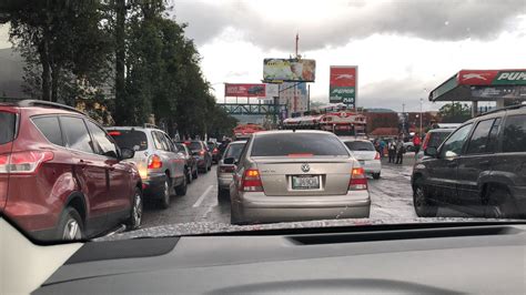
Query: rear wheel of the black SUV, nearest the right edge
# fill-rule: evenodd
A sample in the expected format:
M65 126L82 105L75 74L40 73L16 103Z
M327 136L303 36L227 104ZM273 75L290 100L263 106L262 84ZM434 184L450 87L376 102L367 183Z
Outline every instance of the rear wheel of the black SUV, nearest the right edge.
M519 217L517 205L509 192L500 187L489 187L487 192L484 216L486 218Z

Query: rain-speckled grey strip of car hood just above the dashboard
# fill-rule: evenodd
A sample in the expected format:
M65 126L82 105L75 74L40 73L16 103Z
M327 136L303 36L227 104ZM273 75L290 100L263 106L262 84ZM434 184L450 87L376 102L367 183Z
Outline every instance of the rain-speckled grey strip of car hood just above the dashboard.
M231 225L213 222L193 222L178 223L171 225L154 226L141 228L110 236L94 238L93 241L118 241L144 237L166 237L166 236L186 236L186 235L206 235L206 234L235 234L251 232L257 234L267 231L280 230L308 230L308 228L330 228L348 226L374 226L374 225L402 225L402 224L439 224L439 223L489 223L489 222L513 222L513 220L492 220L492 218L471 218L471 217L436 217L436 218L347 218L347 220L321 220L305 222L286 222L255 225ZM524 223L524 221L517 221ZM343 230L343 228L342 228Z

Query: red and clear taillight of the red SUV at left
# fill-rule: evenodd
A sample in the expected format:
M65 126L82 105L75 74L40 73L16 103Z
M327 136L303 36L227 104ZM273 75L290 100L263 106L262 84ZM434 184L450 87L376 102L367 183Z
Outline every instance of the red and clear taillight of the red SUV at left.
M0 173L30 174L37 172L39 166L53 160L52 152L27 151L0 155Z

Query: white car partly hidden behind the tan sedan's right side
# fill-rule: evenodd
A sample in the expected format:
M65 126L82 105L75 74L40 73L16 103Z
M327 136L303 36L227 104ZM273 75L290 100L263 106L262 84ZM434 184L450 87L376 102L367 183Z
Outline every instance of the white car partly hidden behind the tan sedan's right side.
M358 160L365 173L371 174L375 180L380 179L382 162L380 153L376 152L373 143L367 140L345 140L344 143L351 150L354 157Z

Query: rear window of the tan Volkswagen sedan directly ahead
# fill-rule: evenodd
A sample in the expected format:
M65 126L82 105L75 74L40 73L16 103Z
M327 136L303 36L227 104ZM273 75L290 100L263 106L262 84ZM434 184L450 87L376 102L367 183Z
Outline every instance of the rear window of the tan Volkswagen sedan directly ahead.
M323 133L275 133L254 138L251 156L348 156L342 142Z

